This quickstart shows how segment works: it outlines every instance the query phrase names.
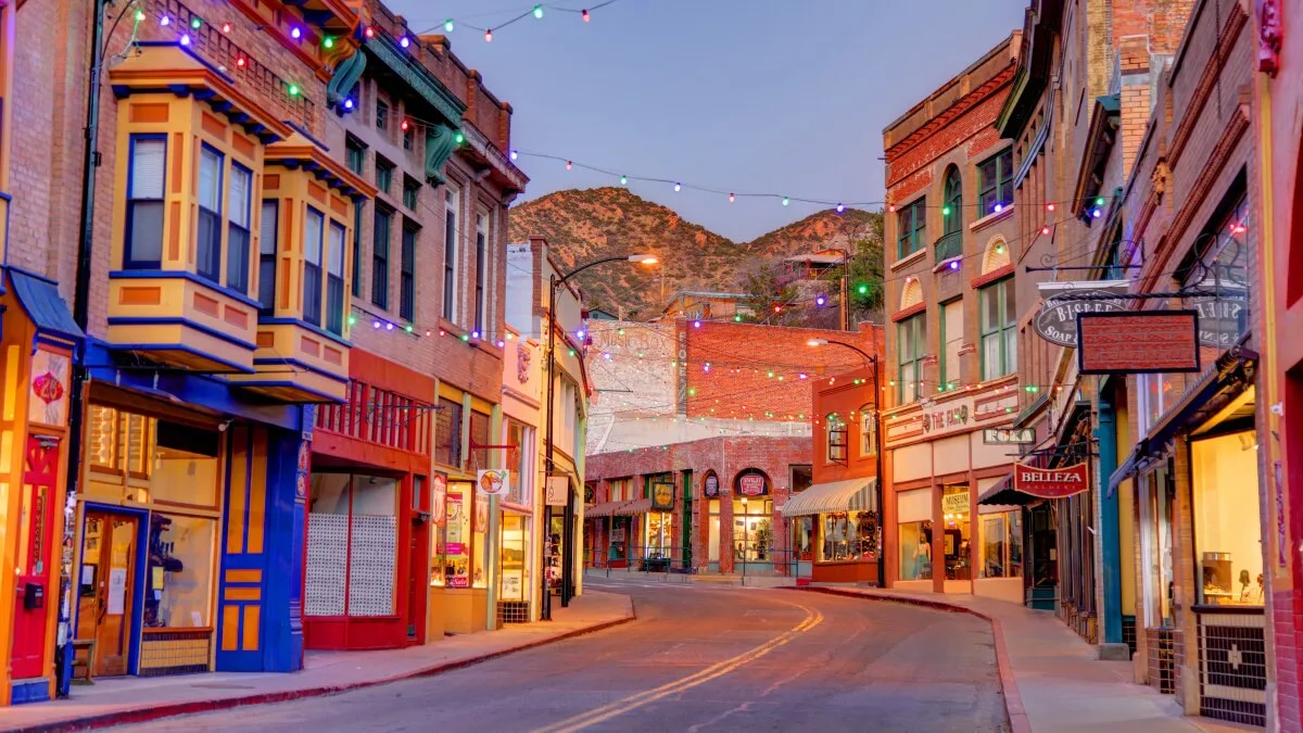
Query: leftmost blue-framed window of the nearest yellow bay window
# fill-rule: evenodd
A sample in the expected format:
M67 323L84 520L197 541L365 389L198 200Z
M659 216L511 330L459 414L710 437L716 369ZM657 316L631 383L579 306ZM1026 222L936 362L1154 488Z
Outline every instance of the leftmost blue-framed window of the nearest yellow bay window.
M132 136L130 183L126 194L124 270L158 270L163 265L163 183L167 140Z

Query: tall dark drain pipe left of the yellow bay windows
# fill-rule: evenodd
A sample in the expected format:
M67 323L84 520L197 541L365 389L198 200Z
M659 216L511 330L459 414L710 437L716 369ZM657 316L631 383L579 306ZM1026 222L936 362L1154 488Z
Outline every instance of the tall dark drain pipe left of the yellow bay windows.
M81 200L81 228L77 240L77 273L73 282L73 321L86 333L90 321L90 270L91 245L95 236L95 168L99 167L99 97L100 73L103 70L104 47L104 7L106 0L94 0L90 39L90 82L86 90L86 150L82 159L82 200ZM60 546L72 546L76 541L76 527L73 518L77 514L77 493L81 489L81 451L85 390L86 390L86 347L82 346L79 357L73 359L72 390L68 395L68 498L64 509L64 543ZM59 646L55 651L55 678L57 682L57 696L66 698L72 685L73 648L72 648L72 573L73 569L60 563L59 578Z

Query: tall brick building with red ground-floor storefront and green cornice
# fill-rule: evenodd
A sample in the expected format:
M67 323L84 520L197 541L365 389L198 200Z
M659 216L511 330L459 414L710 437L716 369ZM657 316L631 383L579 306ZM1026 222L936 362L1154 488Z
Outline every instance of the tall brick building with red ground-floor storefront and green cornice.
M374 197L352 211L349 391L315 411L309 648L394 648L496 626L496 518L480 470L504 468L507 205L526 179L511 107L443 37L362 4L323 138ZM347 290L341 286L347 284Z

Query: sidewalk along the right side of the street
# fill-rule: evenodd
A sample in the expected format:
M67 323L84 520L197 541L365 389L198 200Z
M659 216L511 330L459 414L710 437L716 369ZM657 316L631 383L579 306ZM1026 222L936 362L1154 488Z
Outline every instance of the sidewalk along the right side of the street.
M803 590L972 613L990 621L1014 733L1246 730L1184 716L1171 695L1131 682L1131 663L1100 661L1095 647L1045 610L967 595L829 586Z

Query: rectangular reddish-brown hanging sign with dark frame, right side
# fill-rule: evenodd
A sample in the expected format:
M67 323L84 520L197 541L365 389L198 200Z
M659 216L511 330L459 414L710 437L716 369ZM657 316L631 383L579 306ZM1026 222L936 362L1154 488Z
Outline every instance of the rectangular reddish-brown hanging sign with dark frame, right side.
M1199 372L1199 313L1079 313L1078 372L1139 374Z

